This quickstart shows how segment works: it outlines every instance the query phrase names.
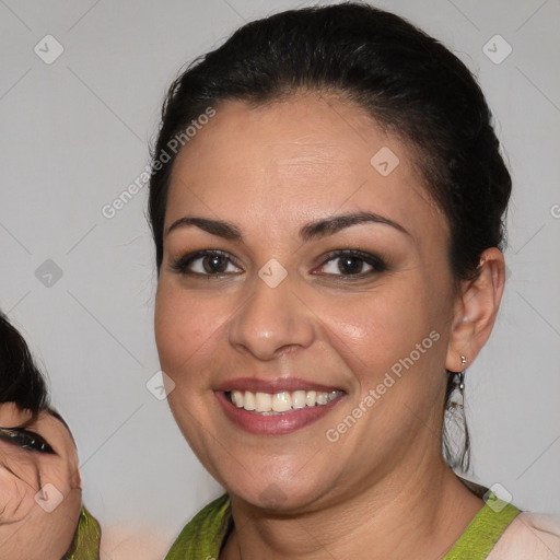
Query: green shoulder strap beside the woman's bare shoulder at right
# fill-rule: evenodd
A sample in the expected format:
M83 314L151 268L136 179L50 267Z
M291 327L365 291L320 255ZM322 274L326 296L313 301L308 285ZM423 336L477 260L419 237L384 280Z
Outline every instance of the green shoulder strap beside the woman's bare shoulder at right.
M517 508L490 492L483 508L442 560L486 560L518 513Z

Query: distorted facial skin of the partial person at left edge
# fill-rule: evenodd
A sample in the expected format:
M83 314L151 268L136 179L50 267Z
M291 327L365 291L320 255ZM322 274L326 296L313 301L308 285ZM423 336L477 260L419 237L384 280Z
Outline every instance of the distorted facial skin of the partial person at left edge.
M21 427L32 415L12 402L0 405L0 425ZM48 411L25 425L56 452L43 454L0 440L0 558L60 560L69 549L81 511L82 490L72 438ZM50 513L35 495L47 483L63 497ZM47 493L47 509L56 493Z

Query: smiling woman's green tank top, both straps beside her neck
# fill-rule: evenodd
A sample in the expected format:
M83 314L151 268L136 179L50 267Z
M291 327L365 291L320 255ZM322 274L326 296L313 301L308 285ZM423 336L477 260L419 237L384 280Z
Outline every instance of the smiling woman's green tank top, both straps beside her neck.
M442 560L485 560L518 513L517 508L491 493ZM218 560L232 523L230 497L223 494L195 515L165 560Z

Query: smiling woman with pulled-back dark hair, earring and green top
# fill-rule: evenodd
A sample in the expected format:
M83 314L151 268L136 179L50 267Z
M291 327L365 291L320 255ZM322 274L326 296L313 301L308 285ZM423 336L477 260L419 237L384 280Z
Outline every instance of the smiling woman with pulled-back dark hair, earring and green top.
M294 10L187 68L153 161L208 107L152 170L155 336L226 493L167 558L558 551L443 436L505 281L511 178L467 68L390 13Z

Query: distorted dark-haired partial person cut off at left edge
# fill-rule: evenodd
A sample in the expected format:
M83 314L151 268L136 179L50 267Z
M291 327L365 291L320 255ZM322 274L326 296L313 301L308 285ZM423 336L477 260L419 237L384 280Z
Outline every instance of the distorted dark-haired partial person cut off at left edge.
M78 453L20 332L0 314L0 558L98 560Z

